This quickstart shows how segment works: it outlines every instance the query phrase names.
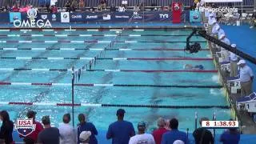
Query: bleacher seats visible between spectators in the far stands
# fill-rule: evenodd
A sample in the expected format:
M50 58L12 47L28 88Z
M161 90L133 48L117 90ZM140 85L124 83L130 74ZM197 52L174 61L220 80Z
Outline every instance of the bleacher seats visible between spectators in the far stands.
M9 1L9 0L8 0ZM10 0L10 4L14 4L16 0ZM63 7L68 0L58 0L57 6ZM129 0L128 6L135 6L136 4L140 3L142 0ZM144 6L169 6L170 3L175 0L143 0ZM184 6L191 6L193 5L192 0L179 0L184 3ZM0 6L6 6L6 1L1 0ZM38 6L38 0L20 0L22 5L33 5ZM100 0L86 0L86 7L96 7L99 5ZM107 0L107 6L110 6L111 3L114 3L114 6L120 6L122 0ZM233 6L241 6L241 2L232 3ZM218 3L218 6L227 6L227 3ZM243 6L254 6L254 0L244 0Z

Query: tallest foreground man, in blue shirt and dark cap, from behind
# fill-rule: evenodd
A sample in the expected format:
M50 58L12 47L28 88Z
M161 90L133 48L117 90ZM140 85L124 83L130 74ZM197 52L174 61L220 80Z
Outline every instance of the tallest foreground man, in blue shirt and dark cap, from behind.
M111 123L107 130L106 138L112 138L112 144L128 144L130 137L135 135L133 124L123 120L125 113L125 110L118 109L118 121Z

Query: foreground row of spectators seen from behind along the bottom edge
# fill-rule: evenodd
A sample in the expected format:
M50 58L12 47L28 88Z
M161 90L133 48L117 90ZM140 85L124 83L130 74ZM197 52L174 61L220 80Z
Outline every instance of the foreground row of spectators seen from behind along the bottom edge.
M138 122L138 134L135 133L134 126L131 122L124 120L126 111L118 109L116 116L117 121L110 124L106 139L112 139L113 144L188 144L188 135L185 132L178 130L178 119L172 118L165 120L158 118L158 128L152 134L146 134L146 122ZM95 135L98 135L98 130L93 123L86 121L85 114L78 114L78 126L75 129L70 125L70 114L64 114L63 123L57 128L50 125L50 116L43 116L42 123L35 121L35 111L28 111L27 118L33 119L35 130L23 137L23 142L26 144L97 144L98 140ZM13 144L12 137L14 130L14 122L10 120L6 110L0 112L2 126L0 130L0 143ZM202 121L208 121L208 118L201 118ZM214 137L210 130L200 127L194 130L193 133L196 144L213 144ZM220 142L224 144L238 144L240 134L236 128L230 128L224 131L221 135Z

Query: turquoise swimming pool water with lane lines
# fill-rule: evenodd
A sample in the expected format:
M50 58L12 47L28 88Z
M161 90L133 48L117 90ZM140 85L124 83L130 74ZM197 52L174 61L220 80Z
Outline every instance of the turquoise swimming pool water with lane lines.
M81 85L74 87L75 103L228 106L205 39L194 36L192 41L200 42L203 50L188 54L183 48L191 30L126 30L118 42L104 51L117 31L0 31L0 102L38 103L2 105L2 110L8 110L13 120L24 118L27 110L35 110L38 120L49 114L52 124L58 126L62 115L71 112L70 106L54 106L54 103L71 102L70 68L85 66L97 54L100 57L95 66L92 63L92 70L82 71L80 81L76 82ZM202 64L205 70L184 71L185 64ZM78 114L85 113L98 130L107 130L116 120L117 109L75 106L75 123ZM148 130L154 129L160 116L178 118L179 129L190 131L194 130L195 112L199 118L211 119L214 112L219 120L230 118L229 109L218 107L124 109L126 120L133 122L134 127L146 121Z

